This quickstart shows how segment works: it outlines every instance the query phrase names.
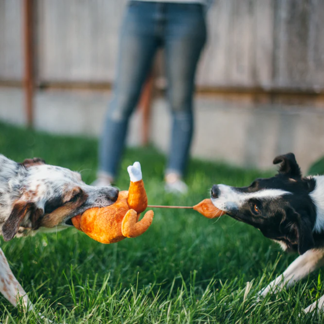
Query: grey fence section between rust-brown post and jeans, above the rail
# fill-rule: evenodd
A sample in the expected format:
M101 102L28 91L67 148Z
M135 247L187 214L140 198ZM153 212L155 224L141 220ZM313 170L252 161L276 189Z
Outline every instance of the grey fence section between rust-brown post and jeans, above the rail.
M125 1L43 0L41 80L111 81Z

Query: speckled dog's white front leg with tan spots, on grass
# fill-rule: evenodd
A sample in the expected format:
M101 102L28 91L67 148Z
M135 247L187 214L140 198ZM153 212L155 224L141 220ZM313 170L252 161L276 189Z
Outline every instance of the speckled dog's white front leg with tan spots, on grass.
M33 308L25 290L12 273L2 249L0 249L0 292L14 306L17 306L18 297L22 297L26 309L31 310Z

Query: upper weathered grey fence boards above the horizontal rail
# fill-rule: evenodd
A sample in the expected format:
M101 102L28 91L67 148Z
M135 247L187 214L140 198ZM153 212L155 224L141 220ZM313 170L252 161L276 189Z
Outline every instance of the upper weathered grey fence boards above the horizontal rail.
M125 0L34 0L37 82L112 82ZM23 78L23 0L0 0L0 79ZM323 91L324 1L215 0L200 87Z

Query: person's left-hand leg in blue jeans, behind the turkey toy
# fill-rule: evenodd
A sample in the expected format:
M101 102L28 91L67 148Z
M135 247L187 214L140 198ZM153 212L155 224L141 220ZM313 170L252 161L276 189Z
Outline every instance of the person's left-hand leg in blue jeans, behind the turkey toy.
M154 3L136 1L127 6L121 28L117 78L99 143L97 182L102 178L112 181L116 176L129 117L136 106L158 47L155 9Z

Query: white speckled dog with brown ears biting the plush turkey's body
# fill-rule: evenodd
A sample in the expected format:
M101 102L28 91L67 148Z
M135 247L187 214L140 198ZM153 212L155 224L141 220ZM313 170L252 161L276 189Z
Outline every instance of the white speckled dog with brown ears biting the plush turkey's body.
M117 197L118 189L88 186L79 173L47 165L39 158L17 163L0 155L0 234L5 241L73 226L75 215L108 206ZM22 297L26 308L33 308L1 249L0 292L14 306Z

